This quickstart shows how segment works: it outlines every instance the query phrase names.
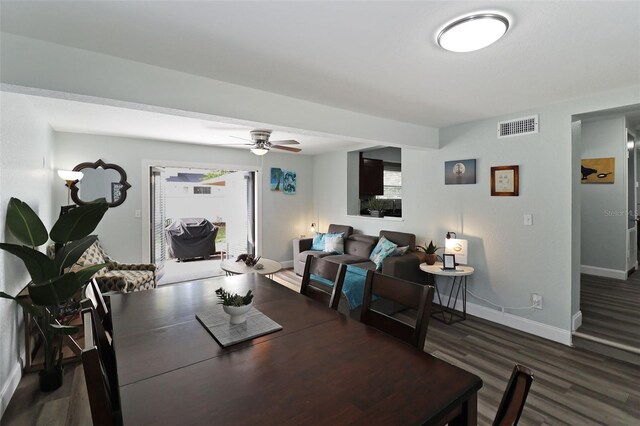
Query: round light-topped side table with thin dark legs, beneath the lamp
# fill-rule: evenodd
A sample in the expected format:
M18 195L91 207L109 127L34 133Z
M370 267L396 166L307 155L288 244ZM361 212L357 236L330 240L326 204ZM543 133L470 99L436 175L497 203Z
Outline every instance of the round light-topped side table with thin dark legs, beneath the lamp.
M438 296L438 304L440 305L440 310L433 311L431 315L434 318L440 320L437 314L442 314L441 321L445 324L452 324L454 322L467 319L467 277L473 274L473 267L468 265L457 265L455 270L443 270L442 262L436 262L433 265L421 263L420 269L425 271L427 274L431 274L434 276L433 286L436 288L436 295ZM438 281L435 279L436 275L450 277L453 279L453 282L451 283L451 291L449 291L449 299L447 300L446 305L442 304L442 297L440 296L440 290L438 289ZM455 297L453 297L454 291L456 293ZM458 303L458 299L460 298L461 292L462 314L456 311L456 305ZM449 314L448 319L446 314Z

